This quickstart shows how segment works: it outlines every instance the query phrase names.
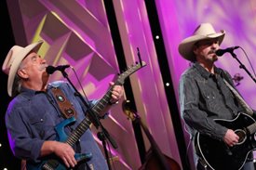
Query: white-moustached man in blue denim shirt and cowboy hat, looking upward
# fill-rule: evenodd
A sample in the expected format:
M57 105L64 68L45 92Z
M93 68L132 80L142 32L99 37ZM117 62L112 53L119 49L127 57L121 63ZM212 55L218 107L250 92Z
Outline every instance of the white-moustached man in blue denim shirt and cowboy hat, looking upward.
M68 109L75 112L75 123L63 126L67 134L85 119L87 108L74 95L72 85L61 81L47 85L47 61L37 54L42 44L43 41L39 41L25 47L13 46L2 67L3 72L8 75L8 95L13 97L6 114L8 139L13 154L26 160L27 169L42 169L50 158L58 160L55 164L58 169L74 166L79 166L79 169L88 169L88 166L97 170L108 169L89 129L75 142L74 147L58 139L56 125L68 120L63 116L59 105L63 101L61 98L69 100L73 107ZM57 98L53 93L55 89L60 89L64 95ZM117 101L122 95L122 86L115 85L111 101ZM95 102L90 101L91 104ZM102 112L100 116L104 114ZM86 153L88 163L77 163L74 158L74 153L77 152ZM49 165L54 166L52 162Z

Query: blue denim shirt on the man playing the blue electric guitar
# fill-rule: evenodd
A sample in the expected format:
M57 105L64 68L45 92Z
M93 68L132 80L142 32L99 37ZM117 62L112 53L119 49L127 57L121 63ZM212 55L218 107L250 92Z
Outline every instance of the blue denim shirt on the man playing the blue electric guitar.
M6 125L10 147L15 156L28 160L28 163L40 161L40 150L45 140L56 140L54 127L64 119L51 88L59 87L77 112L74 124L65 128L70 134L85 118L86 108L74 95L74 89L65 82L55 82L47 86L47 92L38 92L22 88L20 94L9 103L6 114ZM96 100L90 101L95 104ZM88 164L94 169L108 169L105 159L88 129L79 140L79 152L91 152L93 157Z

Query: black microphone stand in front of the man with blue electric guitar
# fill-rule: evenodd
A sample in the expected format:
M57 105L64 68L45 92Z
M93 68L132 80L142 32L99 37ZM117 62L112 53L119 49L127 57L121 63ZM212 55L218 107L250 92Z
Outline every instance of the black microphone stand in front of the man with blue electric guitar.
M109 135L109 133L107 132L107 130L104 128L104 126L101 124L99 115L95 114L95 112L91 111L91 107L88 104L88 102L85 100L85 98L83 98L83 96L78 92L78 90L75 88L74 84L71 82L67 72L65 72L64 70L61 70L62 75L68 80L68 82L70 83L70 85L73 86L75 94L81 99L81 101L83 102L83 104L88 108L88 115L89 118L91 119L92 124L94 124L96 126L96 128L98 129L99 126L101 127L101 132L98 132L97 137L99 137L99 139L102 142L102 146L104 148L104 152L105 152L105 156L106 156L106 160L107 160L107 164L108 164L108 168L111 170L111 165L110 165L110 159L108 156L108 151L106 148L106 138L110 141L111 145L113 146L113 148L117 149L117 144L115 143L115 140L113 137L111 137Z

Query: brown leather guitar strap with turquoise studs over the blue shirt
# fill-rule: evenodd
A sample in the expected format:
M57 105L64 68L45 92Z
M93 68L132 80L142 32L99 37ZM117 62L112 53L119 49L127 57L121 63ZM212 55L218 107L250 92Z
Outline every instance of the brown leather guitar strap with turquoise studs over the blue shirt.
M52 88L51 91L54 94L54 98L56 98L58 106L61 110L62 117L65 119L68 119L72 116L76 117L76 111L74 110L73 104L68 100L68 98L66 98L61 89L55 87Z

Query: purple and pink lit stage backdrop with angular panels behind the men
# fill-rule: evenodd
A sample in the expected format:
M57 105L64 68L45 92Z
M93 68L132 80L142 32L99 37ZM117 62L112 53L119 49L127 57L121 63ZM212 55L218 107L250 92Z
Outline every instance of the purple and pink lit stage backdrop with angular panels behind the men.
M106 1L107 2L107 1ZM113 37L107 20L104 3L101 0L12 0L7 1L12 20L16 44L26 46L39 39L45 41L39 53L49 64L71 64L82 83L79 86L74 73L68 70L71 80L79 91L85 90L88 98L101 98L108 89L108 82L119 72L118 58L125 58L127 65L137 58L137 47L141 59L147 66L130 77L132 93L141 118L148 125L150 132L160 149L181 164L174 134L167 95L166 83L174 86L178 101L178 84L182 72L189 67L189 62L178 53L179 43L193 33L201 22L211 22L216 31L225 30L226 36L222 47L242 46L247 52L252 66L255 65L254 45L256 41L255 7L253 0L155 0L157 17L160 21L162 40L168 57L169 72L172 82L163 82L155 52L149 18L142 0L112 1L115 9L118 31L125 56L116 56ZM249 61L241 49L236 49L237 57L249 67ZM239 69L239 64L229 54L218 61L218 66L240 74L243 79L237 88L249 105L256 106L255 83L248 74ZM254 77L254 74L253 74ZM61 73L52 75L51 80L63 79ZM169 97L168 97L169 98ZM126 99L126 96L124 97ZM175 121L181 121L175 120ZM182 122L183 124L183 122ZM121 105L111 110L110 119L104 122L119 148L111 149L113 156L118 156L116 169L138 169L141 166L138 147L130 121L123 114ZM93 128L96 132L96 129ZM189 136L184 129L186 144ZM95 137L97 139L97 137ZM98 140L98 139L97 139ZM98 140L99 141L99 140ZM99 141L101 145L101 142ZM145 137L146 148L149 142ZM184 153L182 153L184 154ZM191 154L188 154L192 162ZM191 166L193 169L193 166Z

